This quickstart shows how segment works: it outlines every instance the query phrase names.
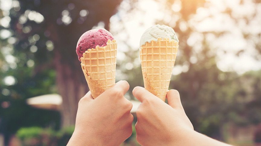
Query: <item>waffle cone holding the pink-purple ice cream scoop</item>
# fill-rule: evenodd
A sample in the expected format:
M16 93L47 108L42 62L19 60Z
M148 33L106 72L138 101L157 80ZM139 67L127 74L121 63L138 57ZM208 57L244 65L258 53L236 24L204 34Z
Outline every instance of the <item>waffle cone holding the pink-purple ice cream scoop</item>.
M107 46L88 49L80 58L93 99L115 84L116 53L116 40L108 40Z

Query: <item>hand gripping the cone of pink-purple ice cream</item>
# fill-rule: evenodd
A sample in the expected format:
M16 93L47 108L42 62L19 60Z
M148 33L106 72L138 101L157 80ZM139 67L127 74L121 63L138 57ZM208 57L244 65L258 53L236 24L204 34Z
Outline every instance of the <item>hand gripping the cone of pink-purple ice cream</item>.
M119 81L96 99L90 91L79 101L75 130L67 145L120 145L132 133L132 103L124 94L127 81Z

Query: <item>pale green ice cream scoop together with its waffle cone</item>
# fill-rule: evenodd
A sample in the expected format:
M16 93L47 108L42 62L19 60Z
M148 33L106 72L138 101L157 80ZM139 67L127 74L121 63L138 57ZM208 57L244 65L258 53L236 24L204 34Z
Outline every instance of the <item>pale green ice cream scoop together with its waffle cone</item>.
M141 37L140 60L144 87L163 101L168 92L178 41L174 30L164 25L150 27Z

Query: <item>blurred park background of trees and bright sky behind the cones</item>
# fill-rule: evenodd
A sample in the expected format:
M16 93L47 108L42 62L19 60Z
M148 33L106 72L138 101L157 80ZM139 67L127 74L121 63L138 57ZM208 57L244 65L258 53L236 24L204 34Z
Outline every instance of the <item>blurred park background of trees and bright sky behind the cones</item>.
M140 37L154 24L179 38L169 89L195 130L260 145L261 0L0 0L0 146L67 144L89 91L75 50L90 29L114 35L116 81L135 101ZM121 145L139 145L135 127Z

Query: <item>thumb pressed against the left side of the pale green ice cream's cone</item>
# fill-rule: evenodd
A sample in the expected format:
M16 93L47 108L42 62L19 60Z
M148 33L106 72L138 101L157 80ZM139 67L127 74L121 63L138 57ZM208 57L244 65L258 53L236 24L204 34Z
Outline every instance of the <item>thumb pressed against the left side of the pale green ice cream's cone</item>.
M150 99L153 97L156 97L155 95L153 95L152 93L150 93L148 90L146 90L143 87L135 87L132 90L132 94L140 101L143 102L144 99Z

